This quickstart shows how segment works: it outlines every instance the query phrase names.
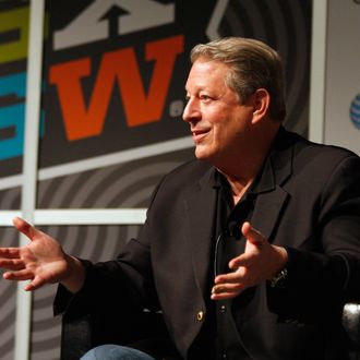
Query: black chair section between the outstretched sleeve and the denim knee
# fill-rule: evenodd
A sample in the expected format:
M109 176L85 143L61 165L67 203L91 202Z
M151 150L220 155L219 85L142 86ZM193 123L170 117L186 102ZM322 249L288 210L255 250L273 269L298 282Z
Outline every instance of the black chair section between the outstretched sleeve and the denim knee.
M120 324L120 325L119 325ZM79 360L87 350L101 344L129 345L149 355L179 359L171 345L161 313L113 313L74 316L65 313L61 327L61 360ZM159 352L159 349L161 353Z

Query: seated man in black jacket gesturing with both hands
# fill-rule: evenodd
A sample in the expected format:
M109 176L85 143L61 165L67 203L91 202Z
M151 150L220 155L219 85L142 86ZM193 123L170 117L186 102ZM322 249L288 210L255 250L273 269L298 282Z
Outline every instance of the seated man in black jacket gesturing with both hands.
M359 157L281 127L283 70L265 44L219 39L191 60L183 120L197 159L163 179L139 239L94 265L16 218L33 241L0 251L4 278L29 279L25 290L60 283L61 311L161 311L180 359L347 359L341 309L360 298ZM136 348L84 359L166 358L161 346Z

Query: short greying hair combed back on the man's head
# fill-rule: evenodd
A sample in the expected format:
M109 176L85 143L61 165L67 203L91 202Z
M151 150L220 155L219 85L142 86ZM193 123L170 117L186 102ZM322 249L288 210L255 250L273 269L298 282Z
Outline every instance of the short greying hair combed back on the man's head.
M238 94L240 101L244 101L257 88L265 88L271 95L271 117L284 120L283 64L273 48L251 38L226 37L196 45L190 53L191 62L194 63L200 57L230 65L225 82Z

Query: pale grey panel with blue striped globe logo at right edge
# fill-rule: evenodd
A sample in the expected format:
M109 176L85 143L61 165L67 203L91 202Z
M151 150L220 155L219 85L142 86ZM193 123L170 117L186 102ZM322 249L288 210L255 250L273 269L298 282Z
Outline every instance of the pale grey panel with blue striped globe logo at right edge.
M324 142L360 155L360 1L327 7Z

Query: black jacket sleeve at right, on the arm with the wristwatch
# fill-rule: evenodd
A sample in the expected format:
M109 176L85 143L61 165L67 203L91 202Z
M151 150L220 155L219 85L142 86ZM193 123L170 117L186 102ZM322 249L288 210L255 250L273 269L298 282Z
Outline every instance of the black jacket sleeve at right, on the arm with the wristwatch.
M338 316L345 302L360 301L359 157L337 165L319 199L313 233L304 241L319 243L319 249L288 247L284 287L267 284L268 307L284 319Z

